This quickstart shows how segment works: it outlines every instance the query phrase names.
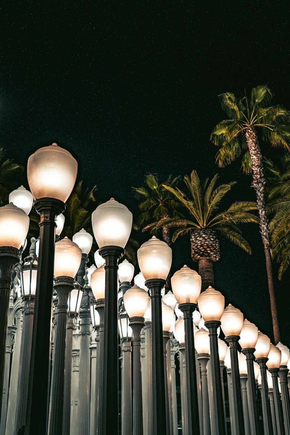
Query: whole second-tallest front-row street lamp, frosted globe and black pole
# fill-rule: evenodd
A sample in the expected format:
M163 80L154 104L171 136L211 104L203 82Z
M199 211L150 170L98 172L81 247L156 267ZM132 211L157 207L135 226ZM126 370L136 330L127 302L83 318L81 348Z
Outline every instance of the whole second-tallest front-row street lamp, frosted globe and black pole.
M104 316L102 435L118 432L118 305L117 262L124 255L132 229L132 213L113 198L92 214L93 234L106 260Z

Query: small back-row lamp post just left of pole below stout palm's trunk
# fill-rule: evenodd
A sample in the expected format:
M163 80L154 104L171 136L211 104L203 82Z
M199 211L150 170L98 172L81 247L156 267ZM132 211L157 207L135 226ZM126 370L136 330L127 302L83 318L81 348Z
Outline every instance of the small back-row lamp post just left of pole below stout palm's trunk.
M197 350L197 359L201 369L201 394L203 402L203 435L210 435L210 402L207 382L207 363L210 360L209 333L201 328L196 331L194 345Z

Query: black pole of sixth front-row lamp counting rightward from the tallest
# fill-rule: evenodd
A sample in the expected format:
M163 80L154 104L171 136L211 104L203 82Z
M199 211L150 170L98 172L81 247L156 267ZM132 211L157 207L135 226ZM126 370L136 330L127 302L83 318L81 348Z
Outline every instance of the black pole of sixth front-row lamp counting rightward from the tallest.
M232 370L232 388L233 388L233 414L236 435L243 435L243 407L242 398L240 395L240 374L239 374L239 362L238 362L238 349L237 342L240 339L239 335L229 335L225 338L230 346L230 365ZM211 350L210 350L211 353Z

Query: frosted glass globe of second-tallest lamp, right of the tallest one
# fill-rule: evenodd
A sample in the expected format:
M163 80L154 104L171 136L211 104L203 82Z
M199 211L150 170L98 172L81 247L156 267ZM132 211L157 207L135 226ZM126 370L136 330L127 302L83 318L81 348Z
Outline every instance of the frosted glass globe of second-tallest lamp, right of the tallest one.
M111 198L92 213L93 234L100 248L125 245L130 237L133 215L123 204Z

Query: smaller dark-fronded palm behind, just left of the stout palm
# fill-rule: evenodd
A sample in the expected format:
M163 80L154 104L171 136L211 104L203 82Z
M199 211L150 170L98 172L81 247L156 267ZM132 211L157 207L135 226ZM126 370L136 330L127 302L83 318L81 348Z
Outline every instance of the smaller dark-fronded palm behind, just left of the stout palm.
M179 177L171 178L171 175L163 183L160 183L157 175L147 174L145 187L132 187L135 197L140 201L140 214L137 224L142 231L150 230L153 235L158 235L161 230L163 241L171 244L170 231L167 225L156 229L157 222L167 217L179 217L177 208L179 204L165 186L175 187Z

